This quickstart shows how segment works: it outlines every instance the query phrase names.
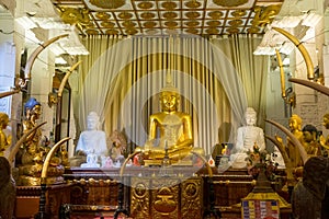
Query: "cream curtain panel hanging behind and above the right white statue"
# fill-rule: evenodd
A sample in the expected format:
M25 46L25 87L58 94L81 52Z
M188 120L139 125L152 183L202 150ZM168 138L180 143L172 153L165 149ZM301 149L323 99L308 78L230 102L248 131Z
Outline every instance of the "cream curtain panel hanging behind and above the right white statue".
M258 125L264 128L266 107L266 77L270 68L269 56L254 56L252 53L261 43L261 37L254 35L232 35L230 37L213 37L216 45L231 60L240 76L246 91L247 105L258 112ZM246 105L239 111L245 112ZM245 119L240 125L246 125Z

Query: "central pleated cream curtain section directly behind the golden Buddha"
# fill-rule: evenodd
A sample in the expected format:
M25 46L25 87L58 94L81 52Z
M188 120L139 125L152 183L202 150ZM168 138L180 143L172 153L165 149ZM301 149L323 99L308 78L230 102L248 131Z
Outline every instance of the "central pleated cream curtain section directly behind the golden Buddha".
M120 95L114 92L122 103L109 96L105 106L107 115L113 115L120 106L120 119L107 120L106 129L125 129L133 145L143 146L148 136L149 115L160 111L158 94L169 72L181 94L180 110L192 115L194 147L211 153L218 142L219 124L230 122L229 102L209 61L212 45L205 38L134 37L132 41L132 64L118 74Z

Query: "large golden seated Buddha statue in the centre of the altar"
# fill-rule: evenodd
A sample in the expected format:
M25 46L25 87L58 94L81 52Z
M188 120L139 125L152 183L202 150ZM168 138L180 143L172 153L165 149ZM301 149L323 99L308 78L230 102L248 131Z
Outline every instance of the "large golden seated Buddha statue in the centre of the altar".
M166 146L172 163L189 160L192 150L203 154L201 148L193 148L192 118L178 111L179 102L177 88L167 83L160 92L161 112L150 115L149 139L141 149L145 164L160 164Z

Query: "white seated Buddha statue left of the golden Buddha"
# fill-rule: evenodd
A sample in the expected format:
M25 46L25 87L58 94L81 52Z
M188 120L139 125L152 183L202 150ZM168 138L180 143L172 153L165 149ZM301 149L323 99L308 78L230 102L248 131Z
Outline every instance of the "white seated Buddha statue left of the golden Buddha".
M87 116L87 130L82 131L76 148L77 154L87 155L87 163L81 166L98 168L103 157L109 155L106 135L99 130L99 116L95 112Z

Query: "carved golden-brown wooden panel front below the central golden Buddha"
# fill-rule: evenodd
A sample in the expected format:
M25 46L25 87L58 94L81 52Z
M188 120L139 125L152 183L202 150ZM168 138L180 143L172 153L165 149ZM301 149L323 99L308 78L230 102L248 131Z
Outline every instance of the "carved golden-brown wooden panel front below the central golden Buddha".
M133 177L131 217L136 219L202 218L202 177Z

